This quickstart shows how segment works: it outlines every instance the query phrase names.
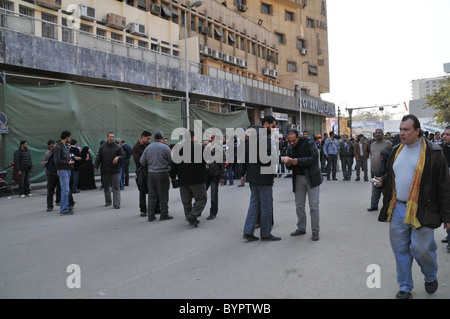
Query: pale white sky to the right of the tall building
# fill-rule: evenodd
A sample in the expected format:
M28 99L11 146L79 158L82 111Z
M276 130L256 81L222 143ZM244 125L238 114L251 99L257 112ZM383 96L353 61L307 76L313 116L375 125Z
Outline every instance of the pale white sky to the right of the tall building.
M450 0L328 0L330 93L345 108L400 103L412 80L444 76L450 63ZM373 109L368 109L373 110Z

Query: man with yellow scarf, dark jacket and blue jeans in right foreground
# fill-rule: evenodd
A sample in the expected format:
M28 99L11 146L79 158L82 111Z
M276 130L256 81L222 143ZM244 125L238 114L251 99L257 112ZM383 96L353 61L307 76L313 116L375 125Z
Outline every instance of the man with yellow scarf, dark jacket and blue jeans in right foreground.
M398 299L411 298L412 261L425 276L425 290L438 288L434 229L450 229L450 175L442 148L422 137L416 116L400 124L401 144L392 150L386 174L375 177L383 188L378 220L390 222L389 238L397 264Z

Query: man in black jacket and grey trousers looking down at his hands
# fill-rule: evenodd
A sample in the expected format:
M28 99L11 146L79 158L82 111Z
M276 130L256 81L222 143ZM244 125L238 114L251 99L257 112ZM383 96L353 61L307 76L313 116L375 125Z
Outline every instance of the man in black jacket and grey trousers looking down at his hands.
M295 193L297 212L297 229L291 236L306 233L306 194L308 194L311 216L312 240L319 240L319 195L322 174L319 167L319 152L316 143L306 137L299 137L298 132L290 130L287 133L289 147L287 157L282 161L292 170L292 186Z

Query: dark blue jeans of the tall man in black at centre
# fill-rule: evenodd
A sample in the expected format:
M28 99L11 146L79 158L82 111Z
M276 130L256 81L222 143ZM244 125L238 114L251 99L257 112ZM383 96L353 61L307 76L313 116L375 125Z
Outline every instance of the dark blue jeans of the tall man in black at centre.
M244 234L252 235L255 231L258 212L261 211L261 237L269 237L272 230L272 185L250 183L250 205L244 225Z

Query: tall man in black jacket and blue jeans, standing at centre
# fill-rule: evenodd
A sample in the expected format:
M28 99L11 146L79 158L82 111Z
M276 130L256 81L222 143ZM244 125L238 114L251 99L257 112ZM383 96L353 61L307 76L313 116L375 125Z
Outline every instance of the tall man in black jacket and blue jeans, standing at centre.
M267 115L262 120L262 127L255 127L245 145L245 162L242 165L241 183L247 179L251 192L243 236L248 241L259 240L253 234L258 213L261 215L261 240L281 240L280 237L274 236L271 233L273 214L273 166L277 164L273 162L273 159L275 156L278 157L277 154L273 153L274 141L272 141L271 133L272 130L276 129L277 124L277 120L272 115ZM256 152L252 149L254 145L256 145ZM250 152L250 149L252 149L252 152Z

